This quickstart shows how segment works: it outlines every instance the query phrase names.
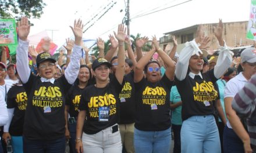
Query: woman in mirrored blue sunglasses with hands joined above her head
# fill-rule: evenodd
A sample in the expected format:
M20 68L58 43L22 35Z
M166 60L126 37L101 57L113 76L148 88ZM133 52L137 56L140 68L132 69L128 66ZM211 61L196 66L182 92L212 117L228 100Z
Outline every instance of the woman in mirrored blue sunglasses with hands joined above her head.
M135 152L170 152L170 88L175 64L153 38L152 49L141 57L134 68L136 89ZM161 78L158 61L149 61L155 50L166 65ZM148 62L149 61L149 62ZM144 72L147 78L144 78Z

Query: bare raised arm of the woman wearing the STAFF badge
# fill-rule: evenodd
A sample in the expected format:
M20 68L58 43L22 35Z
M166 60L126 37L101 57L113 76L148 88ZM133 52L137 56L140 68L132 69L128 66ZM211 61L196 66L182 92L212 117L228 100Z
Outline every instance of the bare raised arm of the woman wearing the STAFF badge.
M118 25L118 34L114 31L116 39L118 39L118 67L116 67L116 79L120 84L123 83L123 76L125 75L125 38L126 28L125 25Z

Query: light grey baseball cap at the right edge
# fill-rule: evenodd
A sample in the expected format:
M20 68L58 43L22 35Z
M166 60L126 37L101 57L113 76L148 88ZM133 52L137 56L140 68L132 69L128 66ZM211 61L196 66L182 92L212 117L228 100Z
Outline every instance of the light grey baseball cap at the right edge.
M256 63L256 49L247 48L241 53L241 63L247 61L248 63Z

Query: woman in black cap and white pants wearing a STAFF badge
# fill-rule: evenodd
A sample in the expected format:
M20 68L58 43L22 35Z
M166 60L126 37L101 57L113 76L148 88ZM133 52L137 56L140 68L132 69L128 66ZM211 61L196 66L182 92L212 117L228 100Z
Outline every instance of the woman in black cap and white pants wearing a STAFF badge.
M122 90L125 75L126 28L118 26L118 66L113 79L109 82L111 64L103 58L93 62L93 75L96 84L88 86L80 100L76 128L77 152L122 152L122 143L118 128L119 93ZM86 123L84 120L87 118ZM81 140L83 139L83 140Z

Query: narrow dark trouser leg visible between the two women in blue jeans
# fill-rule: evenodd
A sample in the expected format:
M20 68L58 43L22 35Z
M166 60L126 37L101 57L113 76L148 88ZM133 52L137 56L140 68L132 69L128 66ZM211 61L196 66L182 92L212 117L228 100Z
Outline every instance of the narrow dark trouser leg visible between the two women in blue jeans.
M182 125L174 125L172 124L172 130L174 135L174 147L173 153L180 153L180 130L182 129Z

